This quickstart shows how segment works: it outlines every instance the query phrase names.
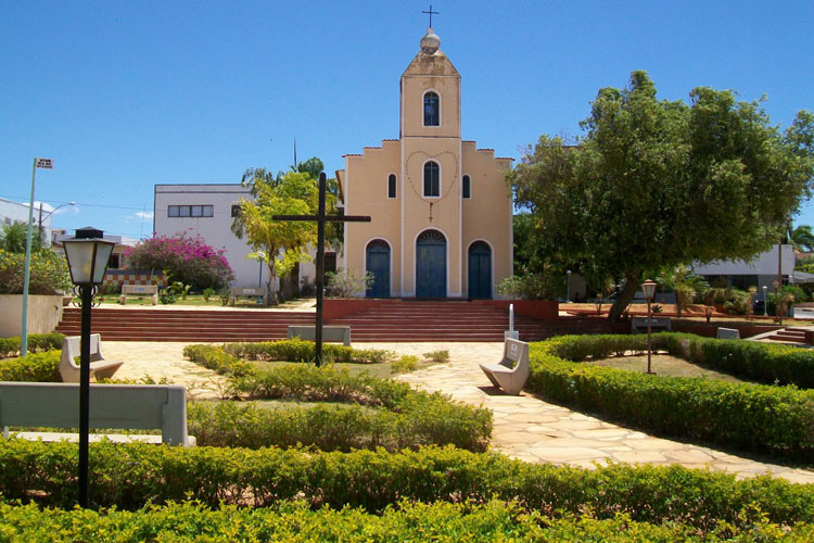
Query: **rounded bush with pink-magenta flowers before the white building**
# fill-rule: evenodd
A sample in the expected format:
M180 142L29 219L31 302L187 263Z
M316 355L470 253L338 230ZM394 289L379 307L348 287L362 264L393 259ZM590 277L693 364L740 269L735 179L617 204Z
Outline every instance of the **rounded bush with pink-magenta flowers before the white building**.
M234 279L224 253L207 245L198 233L191 238L177 232L140 241L128 248L125 256L131 268L167 270L171 281L181 281L193 290L218 290Z

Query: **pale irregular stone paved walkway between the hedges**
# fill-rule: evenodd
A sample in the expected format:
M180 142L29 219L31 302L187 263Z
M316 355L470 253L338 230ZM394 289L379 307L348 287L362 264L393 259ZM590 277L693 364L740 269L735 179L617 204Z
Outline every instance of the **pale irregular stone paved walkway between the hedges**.
M218 397L225 380L215 372L185 361L185 343L105 341L109 359L126 361L116 377L154 379L188 387L193 397ZM421 355L448 350L450 362L399 378L420 389L441 391L455 400L492 409L495 418L492 445L525 462L554 463L593 468L595 463L682 464L710 467L739 478L771 471L794 482L814 483L814 470L765 464L713 449L653 438L640 431L606 422L567 407L521 393L507 396L489 386L479 363L498 362L503 343L358 343L398 354Z

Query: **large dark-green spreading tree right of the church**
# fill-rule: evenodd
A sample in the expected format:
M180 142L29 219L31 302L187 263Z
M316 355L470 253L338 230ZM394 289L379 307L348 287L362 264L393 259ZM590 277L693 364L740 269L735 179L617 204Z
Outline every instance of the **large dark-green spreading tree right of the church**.
M810 194L812 126L801 112L781 132L759 102L705 87L688 104L659 100L634 72L627 88L599 90L578 144L542 136L509 181L535 217L537 261L580 262L593 283L624 279L619 319L647 270L775 243Z

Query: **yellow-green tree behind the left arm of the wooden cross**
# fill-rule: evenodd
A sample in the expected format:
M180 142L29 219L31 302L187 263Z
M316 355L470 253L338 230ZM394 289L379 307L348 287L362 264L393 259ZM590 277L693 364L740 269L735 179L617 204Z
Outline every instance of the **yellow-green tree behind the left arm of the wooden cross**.
M307 247L317 240L316 223L272 220L274 215L305 215L317 211L319 189L309 173L271 175L264 168L246 171L242 180L251 187L252 199L240 201L240 213L232 232L245 237L255 255L263 254L268 266L269 302L278 303L272 288L296 264L309 258Z

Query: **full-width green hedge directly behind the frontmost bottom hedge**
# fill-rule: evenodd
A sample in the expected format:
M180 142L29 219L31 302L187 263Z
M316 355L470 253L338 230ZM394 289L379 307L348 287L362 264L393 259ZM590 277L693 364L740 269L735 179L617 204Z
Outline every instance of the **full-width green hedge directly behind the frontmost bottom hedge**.
M611 465L596 470L526 464L454 447L418 452L320 453L277 447L90 445L91 500L137 509L148 503L198 500L202 505L272 506L303 497L314 508L364 507L379 513L399 500L482 503L518 500L546 516L590 509L597 518L681 521L711 529L742 523L759 508L772 522L814 521L814 485L681 466ZM7 440L0 446L0 493L71 507L76 500L77 445ZM35 492L36 491L36 492Z

